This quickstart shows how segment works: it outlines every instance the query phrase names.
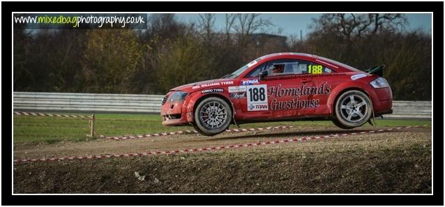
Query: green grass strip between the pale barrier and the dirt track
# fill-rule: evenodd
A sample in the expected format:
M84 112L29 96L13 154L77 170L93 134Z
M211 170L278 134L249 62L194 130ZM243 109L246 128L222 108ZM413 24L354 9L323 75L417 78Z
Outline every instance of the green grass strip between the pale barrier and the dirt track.
M69 113L75 114L75 113ZM90 115L90 114L78 114ZM176 130L193 130L191 126L167 127L158 114L96 114L95 129L101 135L137 135ZM431 121L376 119L377 126L425 125ZM47 116L13 116L13 138L17 142L56 143L57 141L91 140L89 121L80 118ZM311 128L334 127L331 121L289 121L275 123L248 123L241 128L257 128L275 125L293 125ZM369 125L368 123L366 125ZM231 128L236 128L231 125Z

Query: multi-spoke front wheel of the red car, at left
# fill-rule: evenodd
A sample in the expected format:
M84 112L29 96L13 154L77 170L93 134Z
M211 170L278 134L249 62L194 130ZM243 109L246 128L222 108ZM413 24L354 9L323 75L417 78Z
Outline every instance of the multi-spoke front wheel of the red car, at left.
M206 98L195 109L195 125L202 135L218 135L229 128L231 122L232 109L221 98Z

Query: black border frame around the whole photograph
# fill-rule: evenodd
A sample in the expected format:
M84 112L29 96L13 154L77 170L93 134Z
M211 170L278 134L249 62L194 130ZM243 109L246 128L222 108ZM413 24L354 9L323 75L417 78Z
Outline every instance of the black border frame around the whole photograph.
M433 54L435 68L433 82L443 83L443 38L444 38L444 2L1 2L2 24L2 43L3 43L3 83L9 82L9 68L11 54L11 24L8 23L12 12L100 12L113 10L116 12L130 10L132 12L244 12L244 11L280 11L280 12L433 12ZM9 65L11 64L11 65ZM8 74L6 74L8 72ZM11 86L11 85L9 85ZM437 86L437 85L435 85ZM435 117L433 117L434 146L433 156L433 195L246 195L244 197L236 195L209 195L204 197L194 197L193 195L98 195L88 197L86 195L12 195L10 194L10 164L12 159L10 138L3 136L2 139L2 203L3 205L444 205L444 162L443 162L443 108L437 105L437 102L443 100L443 87L432 86L435 89ZM9 95L9 87L3 87L5 93ZM8 91L6 91L8 90ZM8 98L5 98L8 100ZM11 109L12 110L12 109ZM4 111L6 112L6 111ZM433 115L434 116L434 115ZM8 133L8 130L3 130ZM12 135L11 135L12 137ZM211 202L207 201L212 199Z

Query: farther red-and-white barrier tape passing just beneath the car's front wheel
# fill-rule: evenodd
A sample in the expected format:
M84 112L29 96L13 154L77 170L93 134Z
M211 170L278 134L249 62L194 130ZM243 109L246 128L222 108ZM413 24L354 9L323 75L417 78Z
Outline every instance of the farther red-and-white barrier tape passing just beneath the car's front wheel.
M225 132L255 132L255 131L264 131L264 130L273 130L273 129L288 129L293 128L293 126L274 126L274 127L267 127L267 128L248 128L248 129L229 129L225 130ZM196 130L181 130L176 132L163 132L163 133L155 133L155 134L144 134L144 135L126 135L126 136L105 136L105 135L98 135L99 138L104 139L115 139L115 140L121 140L121 139L141 139L141 138L147 138L147 137L162 137L162 136L170 136L170 135L181 135L181 134L197 134Z

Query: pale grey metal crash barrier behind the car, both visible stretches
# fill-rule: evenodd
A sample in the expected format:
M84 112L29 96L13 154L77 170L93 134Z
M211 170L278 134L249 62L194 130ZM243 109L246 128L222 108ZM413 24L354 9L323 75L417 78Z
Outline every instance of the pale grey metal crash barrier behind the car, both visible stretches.
M159 113L164 95L14 92L14 111ZM394 101L385 118L431 118L430 101Z

